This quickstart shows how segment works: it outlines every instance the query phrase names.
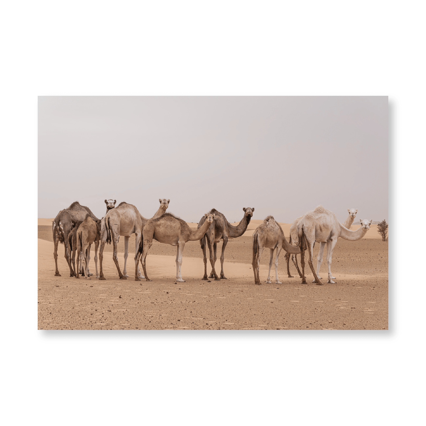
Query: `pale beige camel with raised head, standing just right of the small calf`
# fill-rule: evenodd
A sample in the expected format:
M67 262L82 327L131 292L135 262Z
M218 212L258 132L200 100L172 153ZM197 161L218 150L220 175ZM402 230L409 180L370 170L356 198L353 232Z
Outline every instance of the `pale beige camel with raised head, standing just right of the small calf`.
M169 207L170 199L166 200L159 199L160 207L153 216L153 218L158 218L164 214ZM127 257L129 256L129 238L134 233L136 236L136 247L135 253L137 253L141 236L142 228L148 222L149 219L145 218L138 212L138 209L133 204L128 204L125 201L118 204L117 207L111 209L107 212L104 218L102 218L101 224L101 248L99 249L99 269L100 277L99 279L106 279L104 273L102 272L102 260L104 259L104 247L105 243L113 245L113 254L112 259L114 259L115 266L117 267L118 276L120 279L127 279ZM124 236L124 269L123 273L120 271L118 266L118 257L117 257L117 245L118 239L120 236ZM136 262L135 256L135 266L138 269L139 278L144 278L139 270L138 262Z

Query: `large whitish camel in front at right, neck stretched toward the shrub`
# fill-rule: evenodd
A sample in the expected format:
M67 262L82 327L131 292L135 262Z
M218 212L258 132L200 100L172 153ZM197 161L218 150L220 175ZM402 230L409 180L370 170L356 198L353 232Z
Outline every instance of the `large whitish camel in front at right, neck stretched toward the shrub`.
M360 221L361 226L356 231L351 231L345 228L337 220L336 215L330 210L325 209L322 206L318 206L315 210L305 213L302 219L297 224L297 239L300 248L300 263L302 265L302 284L306 283L305 278L305 250L308 250L308 263L314 274L314 280L317 285L321 285L320 277L320 266L322 262L322 254L324 252L324 246L327 244L327 264L328 264L328 281L327 283L335 284L333 276L331 275L331 256L333 255L334 246L337 243L337 239L343 238L348 241L357 241L366 234L370 229L372 220L368 221L363 219ZM325 243L320 245L320 253L318 254L317 271L314 271L314 265L312 263L313 248L315 242Z

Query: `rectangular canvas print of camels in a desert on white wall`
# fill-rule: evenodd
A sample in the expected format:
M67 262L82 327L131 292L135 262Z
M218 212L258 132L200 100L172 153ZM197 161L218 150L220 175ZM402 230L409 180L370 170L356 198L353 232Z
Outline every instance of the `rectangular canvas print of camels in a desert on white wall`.
M386 96L38 99L40 330L387 330L388 239Z

